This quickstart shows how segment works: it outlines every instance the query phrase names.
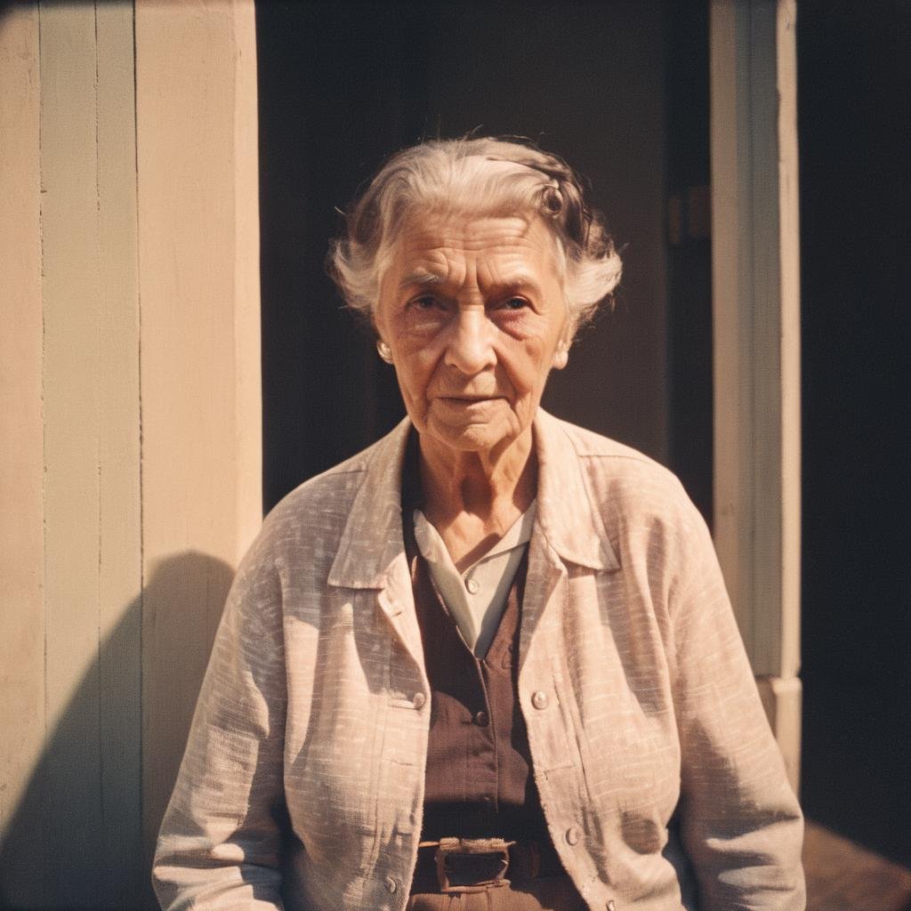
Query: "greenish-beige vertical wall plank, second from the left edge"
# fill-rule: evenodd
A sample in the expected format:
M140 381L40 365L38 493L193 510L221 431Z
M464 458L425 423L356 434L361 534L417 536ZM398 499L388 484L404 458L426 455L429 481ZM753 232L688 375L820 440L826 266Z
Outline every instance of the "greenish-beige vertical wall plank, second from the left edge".
M97 109L94 5L41 7L45 315L44 793L57 807L44 874L56 902L87 907L103 867L98 757ZM78 845L78 856L75 846Z

